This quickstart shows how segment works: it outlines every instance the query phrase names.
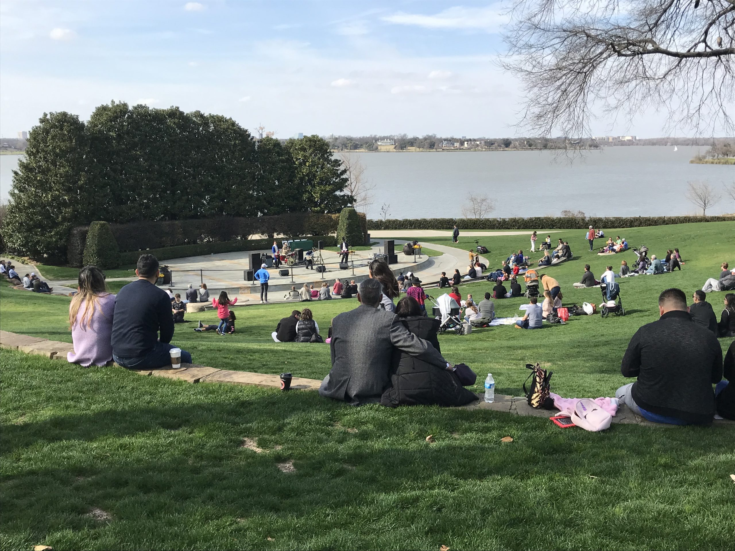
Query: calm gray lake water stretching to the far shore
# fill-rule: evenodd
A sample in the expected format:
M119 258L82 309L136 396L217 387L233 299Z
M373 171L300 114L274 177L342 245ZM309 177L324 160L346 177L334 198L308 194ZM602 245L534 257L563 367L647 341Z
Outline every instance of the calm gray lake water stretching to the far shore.
M690 165L703 147L631 146L587 151L573 162L552 151L451 151L362 153L373 184L368 217L390 204L391 218L458 217L468 193L487 194L492 216L559 215L562 209L588 216L695 214L684 197L688 181L723 188L735 181L733 165ZM0 155L0 198L7 201L18 155ZM723 199L712 215L734 212Z

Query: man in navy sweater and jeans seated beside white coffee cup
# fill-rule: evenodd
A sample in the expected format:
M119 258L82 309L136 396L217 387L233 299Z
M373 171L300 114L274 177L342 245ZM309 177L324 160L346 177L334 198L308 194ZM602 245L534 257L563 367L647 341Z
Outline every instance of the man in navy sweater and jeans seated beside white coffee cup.
M118 292L112 317L112 359L132 370L150 370L171 365L174 348L171 299L156 287L158 259L143 254L137 262L137 281ZM191 354L182 350L182 364Z

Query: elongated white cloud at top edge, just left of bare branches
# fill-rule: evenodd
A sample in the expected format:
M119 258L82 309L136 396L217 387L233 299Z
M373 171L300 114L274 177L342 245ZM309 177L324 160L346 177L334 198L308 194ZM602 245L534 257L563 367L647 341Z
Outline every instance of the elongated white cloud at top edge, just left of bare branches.
M495 32L507 18L493 7L450 7L434 15L396 12L382 18L396 25L420 26L425 29L470 29Z

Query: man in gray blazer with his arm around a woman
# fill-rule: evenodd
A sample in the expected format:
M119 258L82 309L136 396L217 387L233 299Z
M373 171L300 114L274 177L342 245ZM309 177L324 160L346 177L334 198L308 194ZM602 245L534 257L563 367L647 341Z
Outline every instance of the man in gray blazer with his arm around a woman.
M429 342L399 323L395 314L378 309L382 295L380 282L366 279L357 292L360 306L332 320L331 371L319 387L320 395L351 406L380 402L390 383L395 349L442 370L451 367Z

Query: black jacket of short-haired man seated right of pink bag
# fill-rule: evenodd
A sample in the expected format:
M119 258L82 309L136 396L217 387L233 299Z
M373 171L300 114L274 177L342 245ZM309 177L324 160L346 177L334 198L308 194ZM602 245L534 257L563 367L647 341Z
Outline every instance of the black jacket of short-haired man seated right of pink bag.
M639 408L706 425L714 416L712 384L723 376L723 350L686 311L668 311L636 331L620 371L638 378L631 394Z

